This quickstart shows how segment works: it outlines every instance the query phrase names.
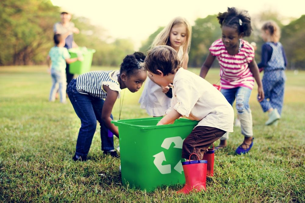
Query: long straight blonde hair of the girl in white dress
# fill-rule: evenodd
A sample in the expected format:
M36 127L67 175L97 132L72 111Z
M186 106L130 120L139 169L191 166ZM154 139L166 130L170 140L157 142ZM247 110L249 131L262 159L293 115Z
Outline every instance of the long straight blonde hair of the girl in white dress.
M185 25L186 27L186 41L182 45L183 49L183 56L181 58L181 61L185 58L185 56L188 54L190 47L191 47L191 38L192 38L192 27L188 23L188 21L183 17L176 17L170 21L170 23L167 24L166 27L164 27L163 30L156 36L156 38L153 40L151 48L156 47L159 45L168 45L170 46L170 30L177 25Z

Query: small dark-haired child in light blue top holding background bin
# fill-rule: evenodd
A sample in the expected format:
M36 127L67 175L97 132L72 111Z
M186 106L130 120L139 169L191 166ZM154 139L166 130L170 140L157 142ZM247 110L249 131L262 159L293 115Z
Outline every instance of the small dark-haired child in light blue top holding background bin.
M49 51L47 57L48 66L52 76L52 88L49 101L55 101L56 85L59 83L60 102L66 102L66 63L70 64L81 58L70 58L70 54L65 46L65 39L60 34L54 35L55 46ZM50 64L50 58L52 65Z

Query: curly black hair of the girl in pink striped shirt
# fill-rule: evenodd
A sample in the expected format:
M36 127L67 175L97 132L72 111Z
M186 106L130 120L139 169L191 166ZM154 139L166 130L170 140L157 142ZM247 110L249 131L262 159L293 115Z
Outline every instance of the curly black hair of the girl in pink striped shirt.
M227 12L218 13L217 19L221 27L228 26L235 28L239 34L243 32L246 37L251 35L251 17L246 10L238 10L235 7L228 7Z

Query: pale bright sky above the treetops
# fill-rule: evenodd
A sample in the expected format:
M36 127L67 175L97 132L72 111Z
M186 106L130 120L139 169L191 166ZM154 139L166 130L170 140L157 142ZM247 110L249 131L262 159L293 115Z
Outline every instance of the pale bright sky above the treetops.
M249 11L250 16L272 10L285 17L299 18L305 14L305 2L300 0L51 0L53 5L74 16L90 19L115 38L131 39L137 50L149 35L166 26L177 16L185 17L191 25L197 18L205 18L227 7ZM255 3L254 3L255 2ZM73 19L72 19L73 21Z

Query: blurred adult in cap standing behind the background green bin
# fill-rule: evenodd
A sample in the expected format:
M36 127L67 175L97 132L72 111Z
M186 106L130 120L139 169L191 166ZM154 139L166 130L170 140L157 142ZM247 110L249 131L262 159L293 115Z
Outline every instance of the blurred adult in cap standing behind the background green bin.
M54 24L54 33L61 34L61 36L66 40L65 47L70 49L72 47L78 47L77 44L73 40L73 33L78 34L79 30L74 26L70 20L72 15L68 12L62 12L60 14L61 21ZM71 74L69 71L70 65L66 64L66 78L67 78L67 85L71 82L74 78L74 74Z

